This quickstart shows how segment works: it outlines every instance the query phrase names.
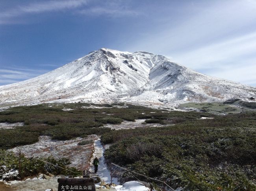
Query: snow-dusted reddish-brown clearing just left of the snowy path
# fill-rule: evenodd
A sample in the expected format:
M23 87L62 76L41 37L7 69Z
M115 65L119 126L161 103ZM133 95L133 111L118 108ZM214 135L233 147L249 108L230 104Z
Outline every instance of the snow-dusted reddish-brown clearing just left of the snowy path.
M24 154L47 158L69 158L70 166L80 170L86 169L89 166L89 160L93 152L93 143L87 145L78 145L81 141L98 139L96 135L88 136L88 138L76 138L67 141L52 140L49 136L40 136L39 141L32 145L18 146L8 151L18 153L21 151Z

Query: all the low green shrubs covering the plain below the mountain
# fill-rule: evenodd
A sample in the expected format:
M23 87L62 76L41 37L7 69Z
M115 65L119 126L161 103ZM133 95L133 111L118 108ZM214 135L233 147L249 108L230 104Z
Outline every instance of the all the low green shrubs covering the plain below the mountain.
M0 112L0 122L24 122L25 125L0 129L0 148L32 144L40 135L67 140L97 134L101 135L104 144L112 144L105 151L108 162L165 180L174 188L256 190L256 112L239 113L239 108L230 106L240 101L186 105L205 112L167 111L129 104L119 104L122 107L94 104L95 108L88 108L90 104L84 103L15 107ZM241 108L242 104L254 108L254 102L241 102ZM227 115L215 115L223 113ZM201 117L213 119L199 120ZM120 124L135 119L165 126L121 130L102 127L107 123ZM0 168L0 174L6 169L17 169L17 156L0 157L1 164L6 166ZM69 164L67 159L50 157L44 160L63 167ZM25 164L22 176L44 171L70 174L70 171L62 172L24 156L22 163ZM131 180L134 177L124 174L123 178Z

